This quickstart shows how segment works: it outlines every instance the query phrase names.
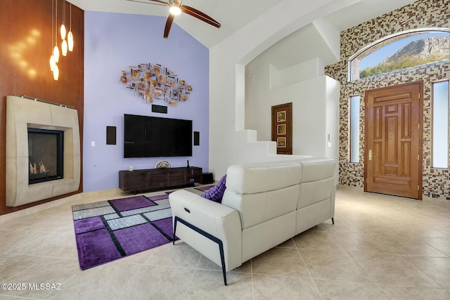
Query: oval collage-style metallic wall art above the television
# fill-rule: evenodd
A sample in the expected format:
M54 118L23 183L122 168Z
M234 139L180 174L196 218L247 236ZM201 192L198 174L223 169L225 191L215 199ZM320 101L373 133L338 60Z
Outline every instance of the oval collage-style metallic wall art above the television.
M159 64L140 63L130 66L129 71L122 70L120 82L147 103L162 100L171 106L187 101L192 86L179 79L178 75Z

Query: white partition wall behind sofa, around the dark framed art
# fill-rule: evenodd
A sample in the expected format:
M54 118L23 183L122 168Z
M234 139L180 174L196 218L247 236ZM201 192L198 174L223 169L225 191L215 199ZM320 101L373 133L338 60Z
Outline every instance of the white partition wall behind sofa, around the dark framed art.
M292 102L293 155L338 158L338 81L320 76L267 89L253 76L247 74L245 124L247 129L257 131L257 141L271 141L271 107Z

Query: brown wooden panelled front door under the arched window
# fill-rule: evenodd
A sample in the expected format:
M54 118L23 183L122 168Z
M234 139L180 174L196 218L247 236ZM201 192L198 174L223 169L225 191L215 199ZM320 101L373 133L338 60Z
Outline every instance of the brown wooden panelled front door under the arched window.
M422 82L366 91L364 191L422 199Z

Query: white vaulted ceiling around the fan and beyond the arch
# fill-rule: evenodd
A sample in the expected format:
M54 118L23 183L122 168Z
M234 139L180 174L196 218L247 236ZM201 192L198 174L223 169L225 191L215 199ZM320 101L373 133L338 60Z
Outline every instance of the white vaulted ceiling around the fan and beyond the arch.
M140 3L129 0L68 0L82 8L84 11L105 11L113 13L132 13L140 15L167 16L169 8L164 5L148 4L148 0L136 0L148 3ZM233 32L255 20L262 13L269 11L277 5L289 5L290 1L310 0L184 0L183 4L197 8L221 23L217 29L201 22L196 18L182 13L176 16L174 22L191 34L200 43L212 48L220 41L229 37ZM332 0L333 1L333 0ZM371 20L379 15L393 11L414 0L347 0L349 6L330 13L326 20L338 31ZM156 3L156 2L153 2ZM165 21L161 27L154 30L164 32Z

